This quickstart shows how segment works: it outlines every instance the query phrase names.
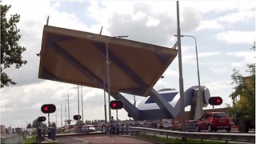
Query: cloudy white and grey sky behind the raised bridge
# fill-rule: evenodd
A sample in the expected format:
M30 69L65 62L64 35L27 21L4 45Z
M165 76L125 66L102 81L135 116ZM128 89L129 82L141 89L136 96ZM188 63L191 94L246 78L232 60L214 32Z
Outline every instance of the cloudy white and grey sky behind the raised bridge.
M22 57L28 61L16 70L5 70L17 85L0 90L1 124L25 127L42 114L45 103L53 103L57 110L50 121L61 126L66 118L67 93L70 94L70 118L78 114L76 85L38 78L42 30L49 16L49 26L82 30L102 35L129 35L130 40L172 47L177 41L176 1L2 1L11 5L6 14L20 14L18 28L26 46ZM246 64L255 62L250 50L255 41L255 1L185 1L179 2L181 33L197 40L200 82L211 96L220 96L223 103L232 105L229 95L234 91L230 75L233 69L244 76ZM198 85L197 65L193 38L182 38L182 74L184 90ZM178 83L178 56L155 84L154 89L175 88ZM70 89L71 88L71 89ZM81 89L80 89L81 90ZM80 93L81 94L81 93ZM82 86L84 119L104 119L103 90ZM125 94L130 102L132 95ZM81 99L81 96L79 96ZM142 101L136 96L136 103ZM61 106L62 104L62 106ZM80 104L81 106L81 104ZM61 109L62 108L62 109ZM207 106L205 109L210 109ZM67 109L67 108L66 108ZM81 110L81 108L80 108ZM189 106L186 107L189 110ZM81 112L80 112L81 114ZM112 110L115 115L115 110ZM118 110L118 118L129 119L125 110ZM64 124L64 122L63 122Z

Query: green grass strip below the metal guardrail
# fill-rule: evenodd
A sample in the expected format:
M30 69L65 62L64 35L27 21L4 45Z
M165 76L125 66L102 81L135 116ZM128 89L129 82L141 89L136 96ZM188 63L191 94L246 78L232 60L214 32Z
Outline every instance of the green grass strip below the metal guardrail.
M138 138L146 138L149 140L152 140L154 142L160 142L160 143L226 143L226 142L220 142L220 141L208 141L204 140L203 142L199 139L186 139L186 142L182 142L182 138L165 138L165 137L158 137L154 135L149 134L132 134L134 137Z

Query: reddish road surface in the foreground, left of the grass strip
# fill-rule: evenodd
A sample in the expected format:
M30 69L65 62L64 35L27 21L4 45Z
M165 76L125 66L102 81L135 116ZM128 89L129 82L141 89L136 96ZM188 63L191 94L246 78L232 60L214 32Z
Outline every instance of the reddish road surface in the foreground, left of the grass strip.
M101 144L101 143L118 143L118 144L153 144L153 142L148 142L138 138L130 138L127 136L114 136L108 137L102 134L92 134L92 135L76 135L72 137L60 137L57 138L59 143L62 144Z

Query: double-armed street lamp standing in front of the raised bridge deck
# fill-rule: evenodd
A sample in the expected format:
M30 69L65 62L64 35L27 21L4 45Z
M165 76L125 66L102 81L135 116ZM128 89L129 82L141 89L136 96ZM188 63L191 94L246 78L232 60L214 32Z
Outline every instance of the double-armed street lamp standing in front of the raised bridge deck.
M92 36L92 35L88 35L87 37L90 38L104 38L104 37L99 37L99 36ZM113 36L113 37L109 37L109 38L104 38L106 40L106 82L107 82L107 93L108 93L108 98L109 98L109 105L110 105L110 62L109 62L109 48L108 48L108 42L110 41L111 38L127 38L128 35L118 35L118 36ZM105 79L105 77L104 77ZM105 80L104 80L104 93L105 93ZM104 94L105 96L105 94ZM104 98L106 100L106 98ZM106 114L106 110L105 110L105 114ZM109 106L109 120L111 119L111 110L110 110L110 106Z

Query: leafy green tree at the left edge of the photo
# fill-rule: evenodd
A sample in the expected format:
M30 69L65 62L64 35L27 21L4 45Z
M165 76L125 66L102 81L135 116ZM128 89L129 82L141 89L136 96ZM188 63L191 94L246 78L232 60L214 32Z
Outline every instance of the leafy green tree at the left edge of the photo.
M12 65L19 69L27 63L26 60L22 60L22 52L26 50L26 47L18 45L19 39L22 38L16 25L20 20L20 15L10 15L10 19L7 20L6 13L9 9L10 6L1 5L1 88L17 84L6 72L3 72L4 69Z

